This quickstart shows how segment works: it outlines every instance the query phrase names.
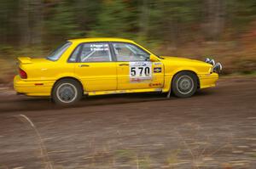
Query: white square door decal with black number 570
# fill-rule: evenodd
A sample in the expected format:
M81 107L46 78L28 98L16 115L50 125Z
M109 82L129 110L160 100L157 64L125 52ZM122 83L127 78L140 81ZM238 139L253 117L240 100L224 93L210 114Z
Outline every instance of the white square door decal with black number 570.
M151 62L130 62L131 82L151 82L152 63Z

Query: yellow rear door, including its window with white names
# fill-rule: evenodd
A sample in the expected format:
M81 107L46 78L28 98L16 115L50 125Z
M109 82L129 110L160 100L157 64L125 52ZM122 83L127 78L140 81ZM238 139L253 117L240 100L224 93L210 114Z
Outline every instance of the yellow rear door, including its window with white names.
M69 59L75 62L74 73L83 83L84 92L117 89L117 70L108 42L80 44Z

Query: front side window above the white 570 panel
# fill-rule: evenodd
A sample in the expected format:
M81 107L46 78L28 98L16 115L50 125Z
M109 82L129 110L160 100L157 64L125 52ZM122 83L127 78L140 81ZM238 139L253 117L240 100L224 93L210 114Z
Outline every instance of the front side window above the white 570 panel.
M149 54L130 43L113 43L117 61L148 61Z

